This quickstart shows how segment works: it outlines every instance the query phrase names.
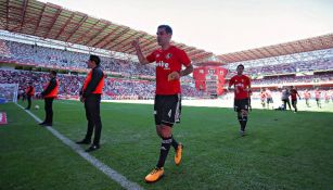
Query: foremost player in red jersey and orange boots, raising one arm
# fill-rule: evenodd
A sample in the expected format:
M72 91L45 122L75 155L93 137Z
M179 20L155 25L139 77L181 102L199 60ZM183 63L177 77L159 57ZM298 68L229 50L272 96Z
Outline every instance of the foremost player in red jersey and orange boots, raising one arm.
M176 151L175 163L180 164L182 144L172 137L172 126L179 122L181 101L181 76L193 72L193 66L187 53L170 45L172 29L168 25L157 27L157 43L161 49L144 56L139 39L132 41L138 59L142 65L156 62L156 94L154 102L155 125L157 135L162 138L159 159L156 167L145 177L146 182L157 181L164 174L164 164L170 145ZM185 69L181 69L182 65Z

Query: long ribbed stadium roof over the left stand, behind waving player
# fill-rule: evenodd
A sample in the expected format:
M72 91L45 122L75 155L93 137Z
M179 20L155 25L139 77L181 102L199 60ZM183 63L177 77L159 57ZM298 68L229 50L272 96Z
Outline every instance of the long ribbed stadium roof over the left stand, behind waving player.
M0 0L0 29L126 54L136 53L131 46L136 38L141 39L144 54L158 48L156 36L36 0ZM195 47L172 43L183 49L193 62L213 55Z

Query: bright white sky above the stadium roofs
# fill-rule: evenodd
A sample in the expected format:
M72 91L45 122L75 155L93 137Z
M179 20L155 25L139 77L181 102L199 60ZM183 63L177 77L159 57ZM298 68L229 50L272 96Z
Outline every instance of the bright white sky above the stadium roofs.
M333 33L333 0L41 0L215 54Z

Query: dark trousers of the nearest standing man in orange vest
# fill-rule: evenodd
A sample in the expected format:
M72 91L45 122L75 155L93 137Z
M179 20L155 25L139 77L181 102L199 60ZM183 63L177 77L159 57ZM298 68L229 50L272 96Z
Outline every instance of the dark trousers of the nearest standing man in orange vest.
M102 122L100 116L101 94L90 94L86 98L85 109L86 117L88 121L88 128L86 134L86 140L91 140L91 136L94 128L93 144L100 144Z

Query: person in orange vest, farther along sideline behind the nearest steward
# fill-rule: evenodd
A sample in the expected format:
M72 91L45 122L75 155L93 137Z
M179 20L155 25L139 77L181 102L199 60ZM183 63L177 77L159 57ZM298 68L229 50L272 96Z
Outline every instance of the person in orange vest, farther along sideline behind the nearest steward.
M50 72L50 81L48 83L46 89L40 93L44 99L44 111L46 119L40 123L41 126L52 126L53 125L53 100L57 97L59 81L56 79L56 72Z

